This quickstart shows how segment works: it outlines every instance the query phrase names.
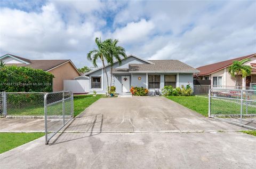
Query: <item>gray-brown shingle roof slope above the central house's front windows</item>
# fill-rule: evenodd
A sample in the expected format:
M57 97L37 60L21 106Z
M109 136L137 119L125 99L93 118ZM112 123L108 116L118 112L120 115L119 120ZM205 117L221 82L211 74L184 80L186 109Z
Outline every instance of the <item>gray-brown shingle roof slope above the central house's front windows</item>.
M152 64L129 64L129 71L193 71L197 69L179 60L149 60Z

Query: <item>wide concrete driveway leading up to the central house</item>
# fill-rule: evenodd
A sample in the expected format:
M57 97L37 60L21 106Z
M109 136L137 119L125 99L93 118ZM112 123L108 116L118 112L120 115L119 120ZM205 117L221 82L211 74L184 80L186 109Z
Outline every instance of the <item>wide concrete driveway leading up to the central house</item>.
M256 138L163 97L103 98L56 135L0 155L1 168L255 168ZM225 132L220 132L225 131Z

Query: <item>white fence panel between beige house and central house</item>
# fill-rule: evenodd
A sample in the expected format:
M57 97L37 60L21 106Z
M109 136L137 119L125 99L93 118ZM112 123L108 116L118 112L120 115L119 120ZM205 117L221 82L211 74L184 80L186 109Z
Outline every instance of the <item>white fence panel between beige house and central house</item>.
M89 93L90 83L89 79L83 80L65 80L64 90L73 93Z

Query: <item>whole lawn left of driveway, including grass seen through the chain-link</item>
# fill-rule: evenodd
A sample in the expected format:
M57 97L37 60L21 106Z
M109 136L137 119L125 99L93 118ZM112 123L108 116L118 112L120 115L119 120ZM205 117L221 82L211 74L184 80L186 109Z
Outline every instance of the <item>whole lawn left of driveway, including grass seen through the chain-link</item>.
M74 96L74 116L77 116L80 112L82 112L85 108L89 107L92 103L102 98L104 95L75 95ZM53 107L51 108L53 109ZM54 105L54 109L61 110L62 103L58 103ZM54 115L56 114L56 111ZM10 116L44 116L44 106L30 106L30 107L22 107L21 108L8 108L7 113ZM51 111L50 111L51 113ZM59 111L60 114L61 111Z

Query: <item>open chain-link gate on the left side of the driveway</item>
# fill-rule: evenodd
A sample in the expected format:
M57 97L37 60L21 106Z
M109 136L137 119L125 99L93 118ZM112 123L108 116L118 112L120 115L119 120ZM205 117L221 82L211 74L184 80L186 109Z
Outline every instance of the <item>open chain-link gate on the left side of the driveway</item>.
M73 107L73 94L71 92L53 92L45 95L44 115L46 144L73 118Z

